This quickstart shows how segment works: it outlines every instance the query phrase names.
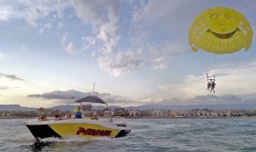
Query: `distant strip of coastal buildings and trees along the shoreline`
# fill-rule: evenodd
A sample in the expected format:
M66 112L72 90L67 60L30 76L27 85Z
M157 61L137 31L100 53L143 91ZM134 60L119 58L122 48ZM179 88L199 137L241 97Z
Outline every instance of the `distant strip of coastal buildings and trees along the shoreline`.
M207 118L231 118L231 117L245 117L256 116L256 110L209 110L209 109L192 109L192 110L127 110L124 108L117 108L107 111L93 110L85 111L84 114L87 117L92 117L93 113L97 112L99 117L108 117L109 114L113 117L124 118L171 118L171 119L207 119ZM48 116L54 117L56 114L65 116L68 113L72 114L72 111L61 110L46 110L41 112L41 109L36 111L0 111L0 118L6 117L39 117L42 113L47 113Z

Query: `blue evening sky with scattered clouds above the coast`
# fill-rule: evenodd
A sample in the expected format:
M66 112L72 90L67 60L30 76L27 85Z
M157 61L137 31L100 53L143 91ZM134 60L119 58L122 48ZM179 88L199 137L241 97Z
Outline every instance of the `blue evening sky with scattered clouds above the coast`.
M189 45L193 18L216 6L255 33L252 0L1 0L0 105L73 105L94 83L109 105L255 103L255 34L235 54Z

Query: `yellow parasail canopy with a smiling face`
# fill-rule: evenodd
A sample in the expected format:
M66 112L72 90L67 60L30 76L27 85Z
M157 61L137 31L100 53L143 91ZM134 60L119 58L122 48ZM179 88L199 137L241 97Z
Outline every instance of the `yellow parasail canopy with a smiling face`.
M201 48L212 54L231 54L252 45L252 27L238 11L213 7L193 20L189 43L193 51Z

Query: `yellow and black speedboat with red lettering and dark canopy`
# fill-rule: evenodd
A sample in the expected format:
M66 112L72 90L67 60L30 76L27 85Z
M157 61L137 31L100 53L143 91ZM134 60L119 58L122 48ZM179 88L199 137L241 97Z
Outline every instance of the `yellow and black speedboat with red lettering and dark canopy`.
M101 98L88 94L86 98L74 101L79 103L83 112L82 103L105 104ZM107 105L109 108L109 105ZM36 140L49 137L64 138L67 136L90 137L123 137L131 132L131 127L125 123L115 123L111 115L108 119L32 119L25 123Z

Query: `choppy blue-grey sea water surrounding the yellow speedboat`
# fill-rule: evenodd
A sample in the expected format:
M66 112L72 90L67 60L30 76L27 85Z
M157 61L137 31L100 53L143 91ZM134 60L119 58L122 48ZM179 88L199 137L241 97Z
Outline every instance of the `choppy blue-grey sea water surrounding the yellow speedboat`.
M256 151L256 119L117 119L132 132L123 138L35 141L27 119L0 119L0 151Z

